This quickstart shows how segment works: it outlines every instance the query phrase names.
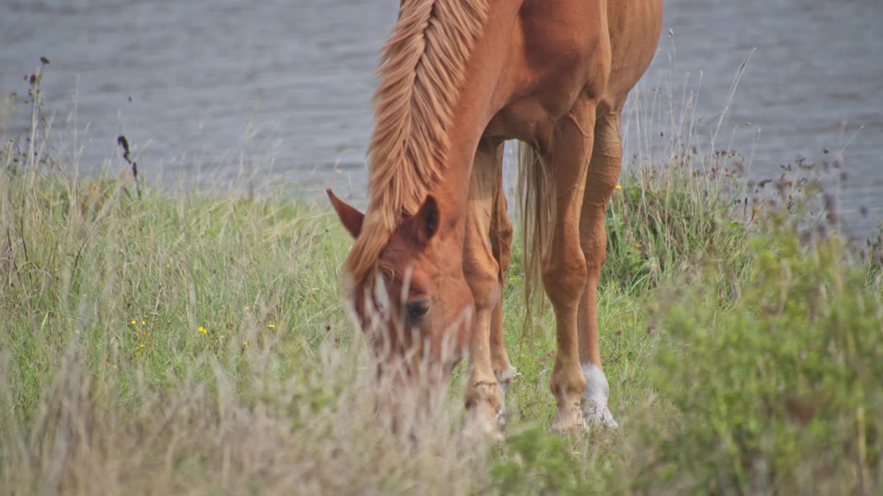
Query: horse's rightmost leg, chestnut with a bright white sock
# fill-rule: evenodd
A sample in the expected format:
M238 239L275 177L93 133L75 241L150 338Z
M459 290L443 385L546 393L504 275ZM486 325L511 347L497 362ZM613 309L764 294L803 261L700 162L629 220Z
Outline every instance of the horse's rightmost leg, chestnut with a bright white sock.
M608 410L608 381L601 368L598 346L598 280L607 257L607 231L604 212L619 182L623 163L620 138L621 110L611 110L595 124L592 161L585 179L582 213L579 217L579 244L587 269L583 297L579 301L579 361L585 377L583 412L589 424L616 426Z

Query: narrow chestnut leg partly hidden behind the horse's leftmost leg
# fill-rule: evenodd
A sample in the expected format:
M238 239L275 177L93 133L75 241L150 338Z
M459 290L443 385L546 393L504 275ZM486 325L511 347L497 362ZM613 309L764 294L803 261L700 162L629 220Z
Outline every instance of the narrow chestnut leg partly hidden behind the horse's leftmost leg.
M506 408L506 392L515 378L516 370L509 364L509 353L506 351L506 342L502 332L502 289L506 282L506 269L509 268L509 260L512 256L512 222L509 221L505 192L502 188L502 143L495 151L494 160L498 165L496 185L494 187L494 211L491 216L490 242L494 259L500 266L498 279L500 281L501 297L494 306L491 314L491 364L494 367L494 375L500 385L501 410Z

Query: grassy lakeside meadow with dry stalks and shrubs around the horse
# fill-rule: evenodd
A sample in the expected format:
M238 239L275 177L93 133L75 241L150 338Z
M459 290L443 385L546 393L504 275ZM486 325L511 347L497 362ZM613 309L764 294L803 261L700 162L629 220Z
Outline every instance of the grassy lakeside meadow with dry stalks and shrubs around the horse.
M599 291L616 431L547 432L554 319L517 242L490 443L460 434L463 365L409 428L376 418L330 208L79 177L31 82L0 150L0 493L880 491L883 244L838 234L837 163L750 182L690 124L627 161Z

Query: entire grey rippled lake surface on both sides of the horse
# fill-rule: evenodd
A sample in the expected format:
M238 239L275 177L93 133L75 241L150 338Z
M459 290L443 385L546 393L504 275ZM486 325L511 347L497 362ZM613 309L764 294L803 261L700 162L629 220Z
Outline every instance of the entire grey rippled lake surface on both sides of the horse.
M396 2L2 4L0 90L23 93L22 76L49 57L48 107L62 139L76 128L79 169L123 169L122 133L142 173L166 183L259 177L298 194L331 185L364 198L374 70ZM691 92L701 129L713 131L751 55L717 141L758 178L777 177L798 154L841 154L841 212L869 234L883 220L883 2L668 0L665 10L640 93Z

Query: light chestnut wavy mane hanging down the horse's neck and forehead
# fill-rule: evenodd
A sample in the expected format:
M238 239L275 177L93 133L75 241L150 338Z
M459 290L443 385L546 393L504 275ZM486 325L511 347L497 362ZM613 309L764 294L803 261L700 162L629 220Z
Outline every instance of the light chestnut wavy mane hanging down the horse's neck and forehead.
M447 165L447 131L488 0L404 0L378 70L368 145L370 200L344 266L364 279L404 214L417 212Z

